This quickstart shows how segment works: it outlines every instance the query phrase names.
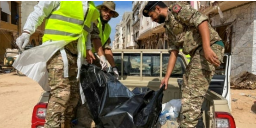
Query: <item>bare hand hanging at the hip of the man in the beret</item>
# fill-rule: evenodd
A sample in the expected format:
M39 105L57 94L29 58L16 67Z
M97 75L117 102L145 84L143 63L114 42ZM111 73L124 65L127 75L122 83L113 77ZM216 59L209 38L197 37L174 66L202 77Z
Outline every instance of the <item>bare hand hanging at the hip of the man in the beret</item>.
M211 48L207 50L203 49L203 52L204 57L208 62L220 67L220 61L218 60L219 58Z

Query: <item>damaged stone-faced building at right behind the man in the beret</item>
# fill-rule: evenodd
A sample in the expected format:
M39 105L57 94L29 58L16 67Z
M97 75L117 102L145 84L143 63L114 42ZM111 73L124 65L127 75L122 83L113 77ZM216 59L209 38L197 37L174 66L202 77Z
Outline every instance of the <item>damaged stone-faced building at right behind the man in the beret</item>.
M209 16L225 52L232 53L231 77L243 71L256 74L256 2L198 2L198 7Z

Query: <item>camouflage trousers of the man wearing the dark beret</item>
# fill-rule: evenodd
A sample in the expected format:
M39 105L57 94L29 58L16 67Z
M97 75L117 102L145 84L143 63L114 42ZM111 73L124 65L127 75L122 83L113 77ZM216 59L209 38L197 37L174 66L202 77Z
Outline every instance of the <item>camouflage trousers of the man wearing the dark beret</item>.
M223 62L224 47L213 44L211 48L218 56L219 61ZM205 59L203 49L197 50L192 56L183 75L180 127L194 128L197 125L198 119L202 116L203 96L209 88L215 68Z

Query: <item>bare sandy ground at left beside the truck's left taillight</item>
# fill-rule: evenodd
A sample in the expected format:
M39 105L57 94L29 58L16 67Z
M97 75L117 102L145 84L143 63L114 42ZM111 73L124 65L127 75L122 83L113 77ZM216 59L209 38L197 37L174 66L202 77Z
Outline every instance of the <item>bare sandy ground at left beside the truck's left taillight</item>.
M0 75L0 128L30 128L41 87L28 77Z

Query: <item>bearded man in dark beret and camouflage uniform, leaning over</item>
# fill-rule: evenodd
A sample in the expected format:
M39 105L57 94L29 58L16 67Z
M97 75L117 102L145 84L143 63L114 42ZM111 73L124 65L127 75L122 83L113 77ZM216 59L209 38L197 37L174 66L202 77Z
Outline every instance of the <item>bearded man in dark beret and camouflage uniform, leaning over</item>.
M164 23L169 38L170 59L167 73L160 87L167 89L179 49L191 56L183 75L181 124L182 128L193 128L202 116L203 96L214 75L215 68L223 62L224 44L218 33L204 16L188 3L178 2L169 8L163 2L148 2L143 15L152 21Z

